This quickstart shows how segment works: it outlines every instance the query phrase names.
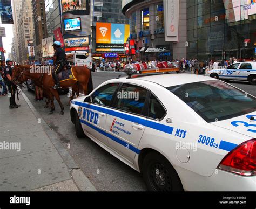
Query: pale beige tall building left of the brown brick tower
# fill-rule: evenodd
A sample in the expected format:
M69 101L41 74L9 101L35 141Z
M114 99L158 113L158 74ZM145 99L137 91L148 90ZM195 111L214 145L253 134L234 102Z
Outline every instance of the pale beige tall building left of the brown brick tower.
M33 40L33 11L32 1L23 0L22 7L19 12L18 22L18 53L20 63L28 61L28 41Z

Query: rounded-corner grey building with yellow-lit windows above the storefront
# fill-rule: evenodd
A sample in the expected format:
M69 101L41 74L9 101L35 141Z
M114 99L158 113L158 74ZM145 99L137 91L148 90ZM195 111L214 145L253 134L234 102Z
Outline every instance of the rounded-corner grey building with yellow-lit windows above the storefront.
M179 9L179 12L177 12L177 18L179 18L178 41L165 41L165 13L167 11L165 11L164 1L123 0L122 11L130 19L130 39L136 41L136 54L131 58L145 61L152 59L172 60L186 57L187 1L175 1ZM147 48L153 50L147 51Z

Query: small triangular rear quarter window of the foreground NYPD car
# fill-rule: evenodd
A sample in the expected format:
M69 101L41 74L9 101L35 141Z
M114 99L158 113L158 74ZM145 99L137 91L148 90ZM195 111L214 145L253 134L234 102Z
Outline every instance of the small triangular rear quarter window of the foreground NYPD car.
M149 117L152 119L162 119L166 114L165 108L153 94L150 95Z

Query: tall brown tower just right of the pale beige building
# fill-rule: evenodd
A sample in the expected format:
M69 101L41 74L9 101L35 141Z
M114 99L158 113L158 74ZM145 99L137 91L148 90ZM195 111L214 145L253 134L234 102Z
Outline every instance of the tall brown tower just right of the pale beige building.
M35 60L43 61L42 39L47 37L45 4L43 0L32 0L33 5L33 23L35 27L35 36L33 44L35 47Z

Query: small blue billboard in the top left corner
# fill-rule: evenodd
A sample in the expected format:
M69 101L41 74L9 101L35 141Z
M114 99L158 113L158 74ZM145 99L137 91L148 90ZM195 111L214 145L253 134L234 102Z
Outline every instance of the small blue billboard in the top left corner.
M11 0L0 1L0 12L2 24L14 24L14 19L12 17Z

